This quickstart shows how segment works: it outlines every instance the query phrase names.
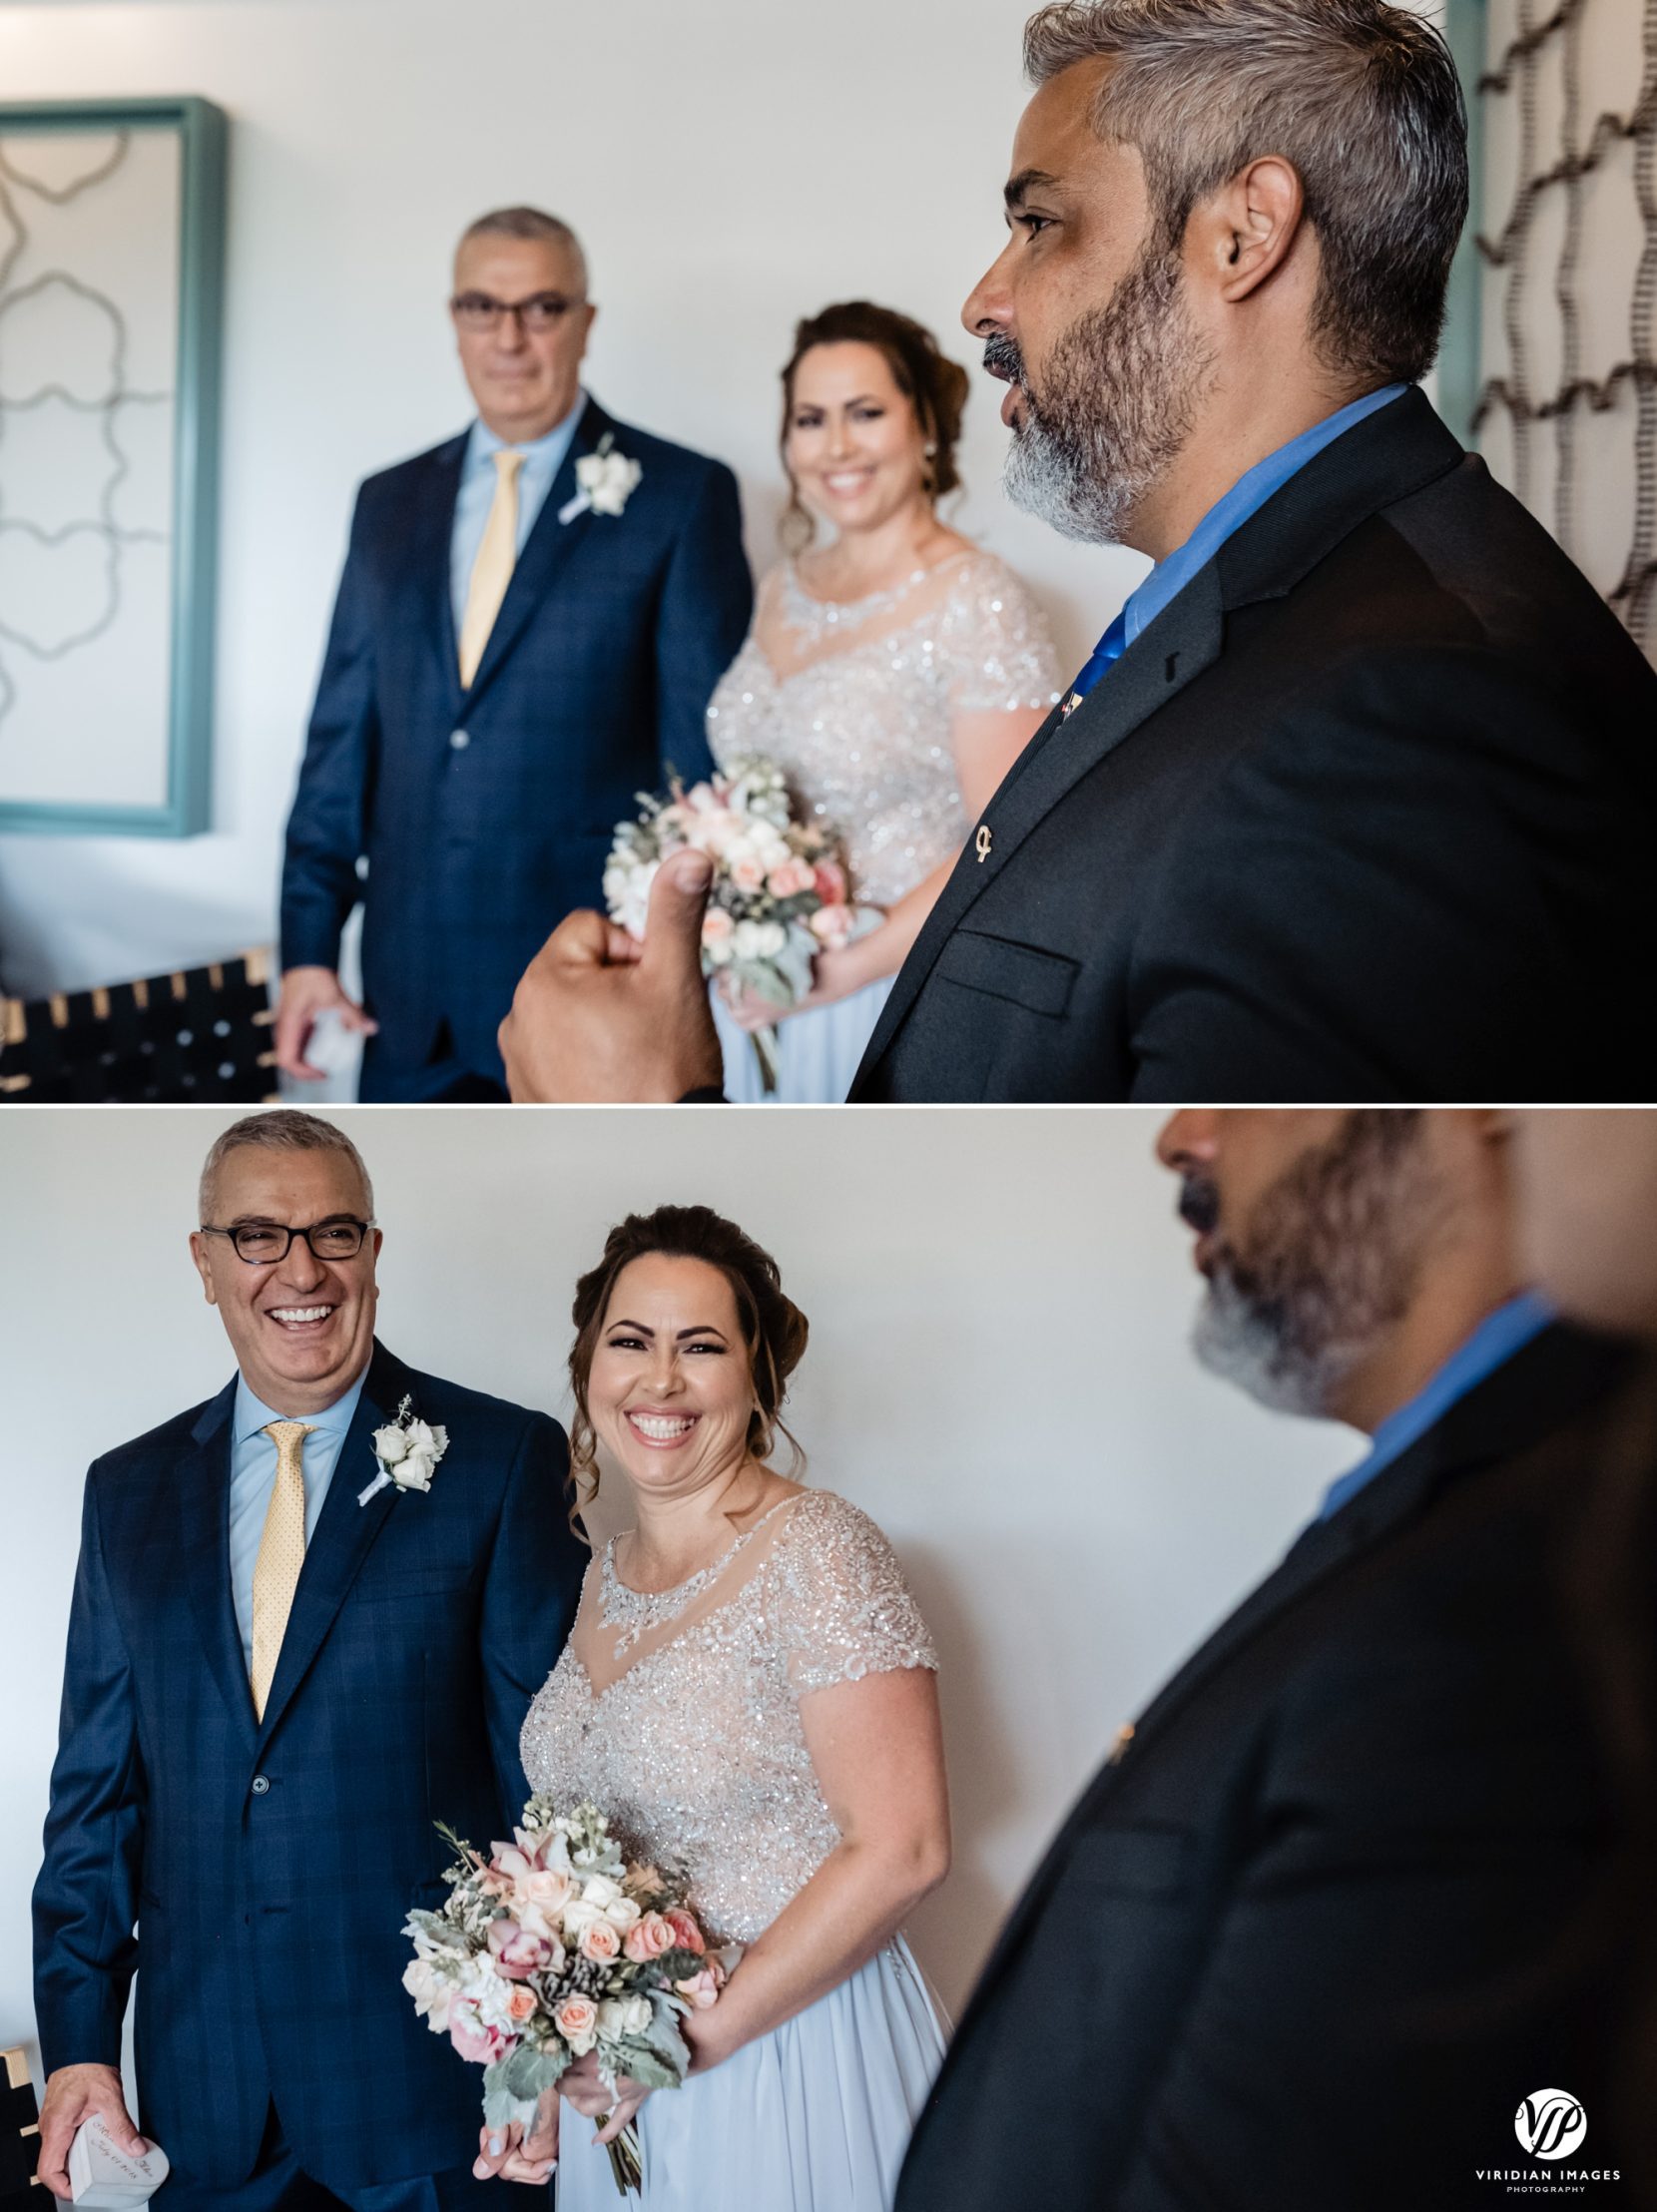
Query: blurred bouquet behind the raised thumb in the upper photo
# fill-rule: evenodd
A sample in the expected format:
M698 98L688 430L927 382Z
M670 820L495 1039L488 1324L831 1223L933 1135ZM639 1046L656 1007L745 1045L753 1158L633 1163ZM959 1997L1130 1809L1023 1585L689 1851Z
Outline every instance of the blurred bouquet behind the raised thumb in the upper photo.
M637 821L622 823L604 869L611 920L644 938L644 911L655 872L688 845L715 867L701 922L704 975L730 975L772 1006L796 1006L812 989L812 962L845 945L856 925L845 867L834 843L794 821L781 768L765 759L732 761L710 783L668 799L639 792ZM777 1088L777 1031L754 1031L765 1091Z

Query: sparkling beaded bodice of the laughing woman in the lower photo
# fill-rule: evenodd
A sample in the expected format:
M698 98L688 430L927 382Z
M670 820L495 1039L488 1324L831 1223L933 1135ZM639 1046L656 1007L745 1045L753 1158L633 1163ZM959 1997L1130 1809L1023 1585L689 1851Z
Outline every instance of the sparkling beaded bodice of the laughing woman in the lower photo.
M529 1708L524 1772L557 1805L591 1798L628 1858L677 1869L721 1942L752 1942L838 1840L801 1697L911 1666L938 1657L892 1546L850 1500L803 1491L677 1590L628 1590L606 1546Z

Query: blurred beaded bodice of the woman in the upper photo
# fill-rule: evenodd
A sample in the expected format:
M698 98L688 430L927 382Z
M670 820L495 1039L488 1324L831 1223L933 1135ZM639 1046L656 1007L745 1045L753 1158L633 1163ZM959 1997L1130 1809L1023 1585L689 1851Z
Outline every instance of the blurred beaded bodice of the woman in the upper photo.
M783 664L761 626L788 641ZM1046 712L1055 684L1046 617L993 553L841 604L814 599L785 562L712 695L708 745L721 765L777 761L805 821L838 832L854 898L892 907L967 838L956 714Z

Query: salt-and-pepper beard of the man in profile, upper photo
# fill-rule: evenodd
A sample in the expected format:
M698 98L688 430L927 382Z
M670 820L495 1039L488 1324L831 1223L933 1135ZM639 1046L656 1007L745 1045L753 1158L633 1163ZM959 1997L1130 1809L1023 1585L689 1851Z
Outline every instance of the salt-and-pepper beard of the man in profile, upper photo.
M1108 305L1064 332L1040 403L1020 376L1024 418L1007 451L1007 498L1062 538L1122 544L1190 438L1210 372L1177 254L1144 254Z

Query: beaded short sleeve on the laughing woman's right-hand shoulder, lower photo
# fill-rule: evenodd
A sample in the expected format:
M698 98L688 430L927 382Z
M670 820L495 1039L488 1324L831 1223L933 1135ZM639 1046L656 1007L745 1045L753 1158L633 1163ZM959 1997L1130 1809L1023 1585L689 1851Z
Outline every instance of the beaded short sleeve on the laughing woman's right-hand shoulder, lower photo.
M807 1491L772 1557L772 1626L796 1697L863 1674L938 1668L896 1553L867 1513Z

